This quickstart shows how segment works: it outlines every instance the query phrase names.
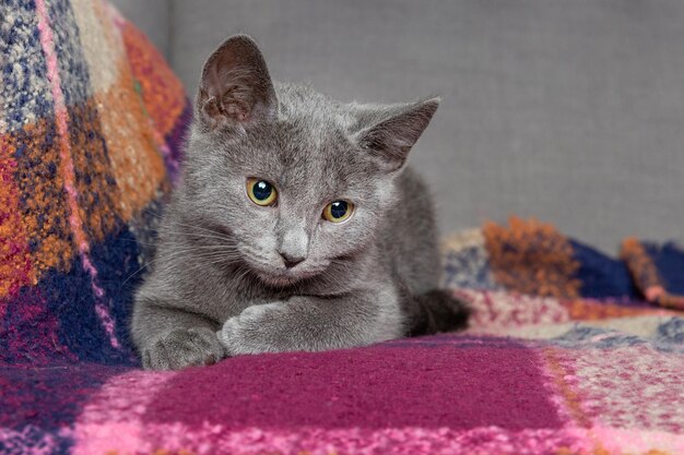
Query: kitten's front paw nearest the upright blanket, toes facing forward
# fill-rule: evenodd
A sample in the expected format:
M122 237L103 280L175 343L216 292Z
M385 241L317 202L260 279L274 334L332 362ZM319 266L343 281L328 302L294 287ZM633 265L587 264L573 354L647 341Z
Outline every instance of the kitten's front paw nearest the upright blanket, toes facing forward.
M209 328L176 328L142 350L148 370L180 370L216 363L225 349Z

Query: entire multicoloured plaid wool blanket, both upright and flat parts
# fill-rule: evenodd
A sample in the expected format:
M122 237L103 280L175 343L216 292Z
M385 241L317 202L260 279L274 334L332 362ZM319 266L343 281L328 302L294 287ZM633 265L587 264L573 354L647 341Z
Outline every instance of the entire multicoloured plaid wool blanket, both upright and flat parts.
M102 1L0 2L0 454L684 454L684 251L445 241L463 334L144 372L127 326L189 115Z

